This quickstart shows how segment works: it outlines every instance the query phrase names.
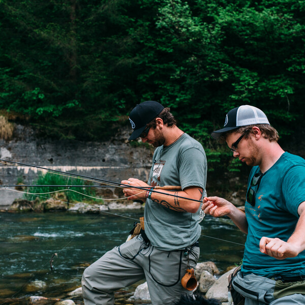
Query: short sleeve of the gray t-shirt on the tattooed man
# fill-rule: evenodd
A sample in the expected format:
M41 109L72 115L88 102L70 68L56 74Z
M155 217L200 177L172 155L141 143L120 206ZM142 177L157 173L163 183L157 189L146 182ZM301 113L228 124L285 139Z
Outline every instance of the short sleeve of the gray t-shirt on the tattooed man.
M178 163L182 190L192 186L205 190L207 164L204 151L196 147L186 149L180 154Z

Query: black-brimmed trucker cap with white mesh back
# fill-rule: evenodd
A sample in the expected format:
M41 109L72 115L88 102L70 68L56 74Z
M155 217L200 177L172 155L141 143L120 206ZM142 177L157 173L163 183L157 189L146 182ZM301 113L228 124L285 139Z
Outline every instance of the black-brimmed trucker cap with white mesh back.
M212 132L211 136L214 139L219 139L223 133L237 129L241 126L254 124L270 125L267 116L263 111L254 106L242 105L230 110L226 115L224 128Z

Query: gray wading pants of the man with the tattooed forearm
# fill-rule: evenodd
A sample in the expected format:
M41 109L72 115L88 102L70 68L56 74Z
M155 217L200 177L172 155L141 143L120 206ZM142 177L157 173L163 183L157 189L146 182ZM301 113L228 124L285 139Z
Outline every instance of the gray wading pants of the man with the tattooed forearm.
M199 247L189 247L190 267L196 267ZM192 294L181 286L187 271L184 250L161 251L145 243L141 234L108 251L87 267L82 276L85 305L113 305L114 291L146 279L151 303L172 304L182 293Z

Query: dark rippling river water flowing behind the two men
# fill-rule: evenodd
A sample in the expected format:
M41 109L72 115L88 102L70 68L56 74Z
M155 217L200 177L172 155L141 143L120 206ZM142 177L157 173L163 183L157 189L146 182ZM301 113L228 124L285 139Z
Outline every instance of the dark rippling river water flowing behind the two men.
M1 213L0 304L2 300L16 303L16 298L31 295L63 298L80 287L84 268L124 242L134 221L143 216L143 210L114 213L117 215ZM206 216L201 226L199 262L214 261L222 273L240 262L246 236L229 219ZM51 270L54 253L57 257ZM31 291L33 281L43 281L46 286ZM117 298L126 294L123 299L128 299L135 287L121 290Z

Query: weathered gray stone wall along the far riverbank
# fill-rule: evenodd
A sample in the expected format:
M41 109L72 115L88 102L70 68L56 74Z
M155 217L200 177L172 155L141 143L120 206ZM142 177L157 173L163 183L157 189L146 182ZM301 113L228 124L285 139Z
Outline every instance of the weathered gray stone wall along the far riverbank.
M120 182L137 177L148 179L153 149L128 143L130 130L119 130L116 137L105 142L50 140L38 137L28 127L15 126L10 141L0 140L0 159ZM17 181L32 184L40 171L37 168L5 165L0 162L1 185ZM0 204L8 205L19 193L2 190Z

